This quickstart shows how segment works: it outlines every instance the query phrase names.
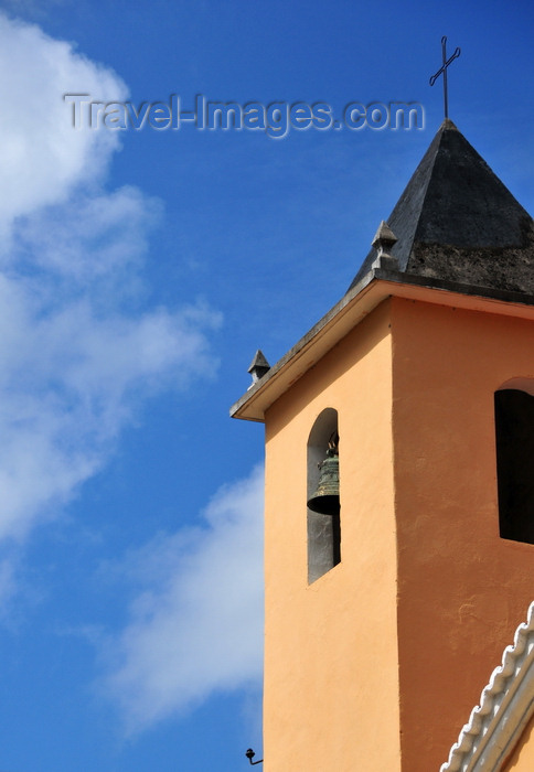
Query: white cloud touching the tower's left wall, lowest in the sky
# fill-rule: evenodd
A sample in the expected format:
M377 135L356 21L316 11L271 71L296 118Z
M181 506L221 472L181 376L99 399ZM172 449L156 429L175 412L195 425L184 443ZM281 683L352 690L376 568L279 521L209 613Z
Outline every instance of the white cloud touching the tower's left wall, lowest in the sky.
M141 589L107 642L103 688L128 732L252 684L263 661L263 469L222 487L206 527L160 535L122 565Z

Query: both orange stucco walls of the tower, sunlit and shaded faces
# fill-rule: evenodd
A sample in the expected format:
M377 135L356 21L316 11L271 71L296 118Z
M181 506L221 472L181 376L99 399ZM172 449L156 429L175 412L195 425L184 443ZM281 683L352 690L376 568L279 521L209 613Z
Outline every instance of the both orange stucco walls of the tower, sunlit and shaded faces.
M392 298L267 411L266 772L447 760L534 597L534 546L498 523L493 393L520 377L534 322ZM308 586L307 441L327 407L341 564Z

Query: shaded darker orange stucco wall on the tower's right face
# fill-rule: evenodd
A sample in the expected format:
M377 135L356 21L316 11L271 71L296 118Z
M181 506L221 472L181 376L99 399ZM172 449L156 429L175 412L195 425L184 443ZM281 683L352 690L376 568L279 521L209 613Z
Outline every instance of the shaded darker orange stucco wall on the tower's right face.
M534 546L499 536L493 416L534 378L534 324L393 299L392 326L403 771L427 772L534 597Z

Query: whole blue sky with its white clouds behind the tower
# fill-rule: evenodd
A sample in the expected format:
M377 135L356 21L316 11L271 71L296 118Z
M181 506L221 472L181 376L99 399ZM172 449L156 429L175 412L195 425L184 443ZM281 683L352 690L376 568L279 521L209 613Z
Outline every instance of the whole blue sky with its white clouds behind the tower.
M1 772L261 752L263 430L228 407L350 285L441 122L444 34L450 117L534 211L533 22L526 0L0 2ZM65 93L426 121L76 130Z

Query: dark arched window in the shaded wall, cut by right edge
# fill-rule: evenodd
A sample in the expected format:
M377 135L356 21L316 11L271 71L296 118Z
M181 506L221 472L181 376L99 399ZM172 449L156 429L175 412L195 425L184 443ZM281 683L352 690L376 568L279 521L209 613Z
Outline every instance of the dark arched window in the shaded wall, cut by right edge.
M534 544L534 396L521 386L495 392L499 530Z

